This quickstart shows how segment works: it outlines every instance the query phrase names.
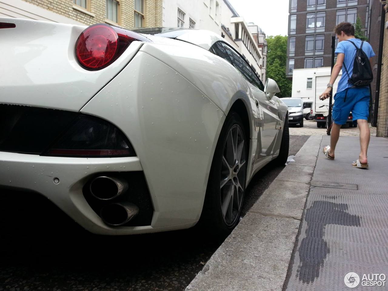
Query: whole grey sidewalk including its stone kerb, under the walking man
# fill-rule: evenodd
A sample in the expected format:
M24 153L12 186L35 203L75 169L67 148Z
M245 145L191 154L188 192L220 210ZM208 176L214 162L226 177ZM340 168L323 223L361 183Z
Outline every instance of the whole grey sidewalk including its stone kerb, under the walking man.
M346 290L347 272L388 275L388 139L371 137L368 170L350 165L358 137L340 137L334 161L327 144L307 140L186 290Z

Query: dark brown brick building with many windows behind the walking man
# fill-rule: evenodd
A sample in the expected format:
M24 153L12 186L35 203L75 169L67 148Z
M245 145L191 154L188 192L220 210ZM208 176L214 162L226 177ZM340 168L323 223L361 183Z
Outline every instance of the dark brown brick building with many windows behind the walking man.
M287 76L293 69L331 66L336 24L360 17L368 36L369 0L289 0Z

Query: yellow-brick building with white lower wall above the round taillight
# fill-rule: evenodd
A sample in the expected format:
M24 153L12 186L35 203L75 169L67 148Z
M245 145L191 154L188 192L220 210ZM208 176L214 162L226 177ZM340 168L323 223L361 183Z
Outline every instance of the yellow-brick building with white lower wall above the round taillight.
M0 16L124 28L162 25L163 0L1 0Z

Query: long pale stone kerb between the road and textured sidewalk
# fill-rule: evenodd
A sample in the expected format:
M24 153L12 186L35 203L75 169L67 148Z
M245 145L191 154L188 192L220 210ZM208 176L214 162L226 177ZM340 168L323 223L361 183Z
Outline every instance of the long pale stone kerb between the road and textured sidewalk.
M282 290L321 140L309 137L186 291Z

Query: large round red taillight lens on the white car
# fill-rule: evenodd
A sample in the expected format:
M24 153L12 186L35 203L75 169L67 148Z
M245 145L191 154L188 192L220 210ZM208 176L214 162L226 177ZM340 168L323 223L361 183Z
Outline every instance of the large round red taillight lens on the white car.
M118 35L107 24L94 24L85 29L76 42L78 61L87 69L102 69L116 55Z

